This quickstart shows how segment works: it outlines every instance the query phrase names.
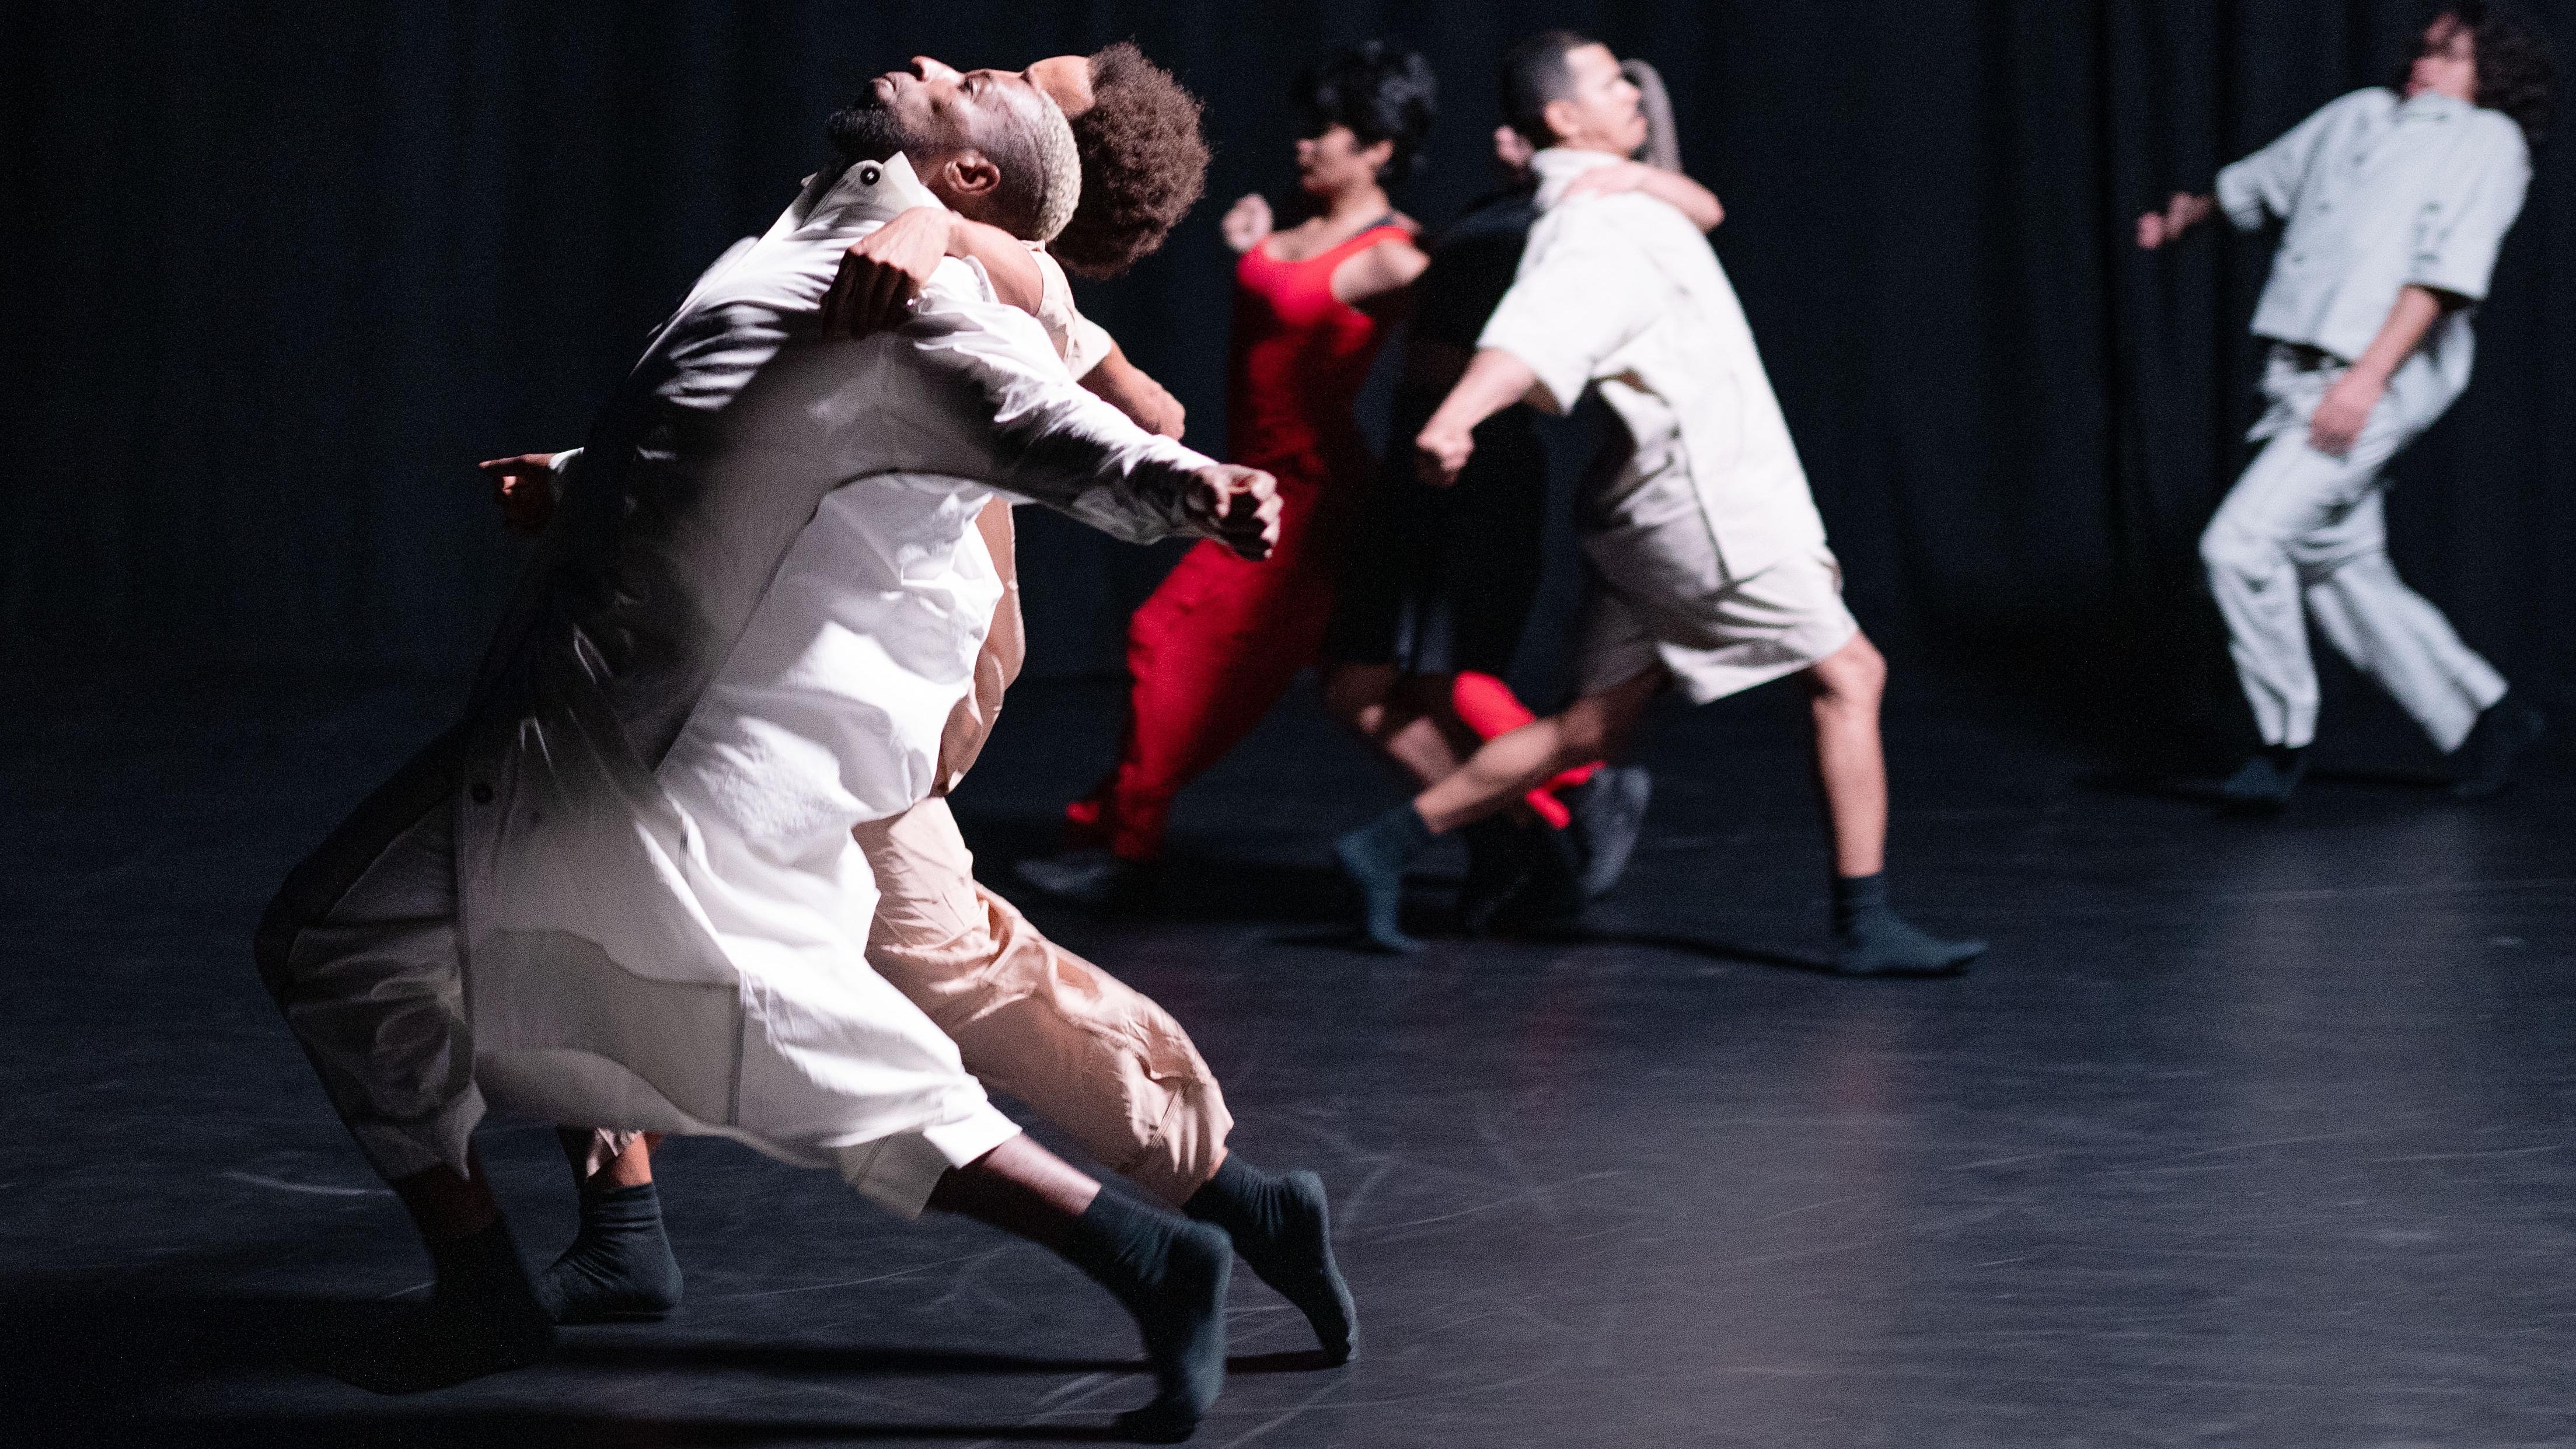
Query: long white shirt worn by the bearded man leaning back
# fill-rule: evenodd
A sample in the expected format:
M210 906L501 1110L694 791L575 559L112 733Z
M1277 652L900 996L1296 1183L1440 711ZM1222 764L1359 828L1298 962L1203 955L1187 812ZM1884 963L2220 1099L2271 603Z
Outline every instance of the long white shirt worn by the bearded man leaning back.
M667 1102L775 1127L837 1109L799 1081L896 1058L979 1102L866 975L850 826L938 777L999 597L981 504L1151 540L1208 461L1082 391L971 263L902 329L824 340L848 245L930 203L902 160L860 162L708 268L592 430L487 659L456 870L477 1058L520 1102L580 1086L623 1114L567 1120Z

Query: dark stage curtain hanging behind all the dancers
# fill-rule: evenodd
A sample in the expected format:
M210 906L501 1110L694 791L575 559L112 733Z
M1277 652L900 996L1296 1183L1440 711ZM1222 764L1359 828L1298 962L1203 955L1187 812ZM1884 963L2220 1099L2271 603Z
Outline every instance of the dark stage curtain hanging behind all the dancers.
M2553 5L2576 57L2576 15ZM2069 723L2241 713L2192 540L2244 461L2269 239L2138 208L2385 77L2411 0L1414 5L188 5L0 10L0 649L57 667L456 672L518 566L469 463L572 445L760 229L860 77L1136 36L1211 108L1211 201L1084 291L1221 448L1224 201L1285 180L1288 77L1394 36L1445 85L1440 221L1492 64L1584 26L1672 82L1865 623ZM2543 154L2478 381L2401 466L2401 569L2576 690L2576 170ZM1041 674L1118 669L1172 551L1025 525ZM1553 597L1571 574L1558 556ZM1533 672L1546 674L1535 659Z

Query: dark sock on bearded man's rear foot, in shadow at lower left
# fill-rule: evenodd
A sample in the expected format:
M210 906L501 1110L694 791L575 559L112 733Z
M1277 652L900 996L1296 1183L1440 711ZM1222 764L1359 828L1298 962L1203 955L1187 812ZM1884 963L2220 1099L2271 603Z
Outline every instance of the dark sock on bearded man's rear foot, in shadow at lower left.
M389 1331L335 1346L343 1380L374 1392L422 1392L523 1369L554 1346L507 1223L430 1243L438 1287Z

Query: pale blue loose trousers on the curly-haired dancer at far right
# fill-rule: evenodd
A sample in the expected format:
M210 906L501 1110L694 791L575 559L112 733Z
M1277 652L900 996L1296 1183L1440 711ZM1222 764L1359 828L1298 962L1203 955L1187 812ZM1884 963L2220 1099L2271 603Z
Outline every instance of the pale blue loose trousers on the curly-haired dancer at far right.
M2228 654L2264 744L2316 739L2308 620L2450 754L2504 677L2460 643L2442 610L2388 564L2385 468L2450 407L2424 358L2411 360L2342 458L2308 445L2308 420L2344 365L2275 347L2264 371L2269 438L2200 535Z

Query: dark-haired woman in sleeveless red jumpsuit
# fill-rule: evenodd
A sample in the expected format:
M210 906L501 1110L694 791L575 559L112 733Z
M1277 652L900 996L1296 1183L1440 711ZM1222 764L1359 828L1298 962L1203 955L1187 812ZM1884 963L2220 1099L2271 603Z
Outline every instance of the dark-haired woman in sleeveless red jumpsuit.
M1306 221L1270 229L1247 196L1226 214L1234 268L1229 456L1280 481L1280 543L1262 564L1193 548L1128 623L1128 718L1118 764L1066 806L1064 854L1020 865L1030 885L1103 903L1162 854L1172 795L1216 764L1316 664L1345 530L1373 461L1350 404L1378 355L1383 304L1427 257L1386 183L1419 162L1430 67L1381 44L1337 51L1298 82Z

